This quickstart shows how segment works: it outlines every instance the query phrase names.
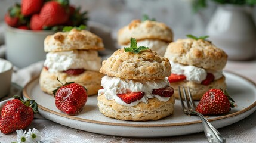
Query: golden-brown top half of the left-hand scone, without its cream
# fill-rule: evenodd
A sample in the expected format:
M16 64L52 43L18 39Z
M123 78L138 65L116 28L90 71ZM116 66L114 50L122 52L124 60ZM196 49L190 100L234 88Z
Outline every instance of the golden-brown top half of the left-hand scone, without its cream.
M70 51L73 49L101 50L104 49L104 45L102 39L94 33L77 29L48 35L44 40L45 52Z

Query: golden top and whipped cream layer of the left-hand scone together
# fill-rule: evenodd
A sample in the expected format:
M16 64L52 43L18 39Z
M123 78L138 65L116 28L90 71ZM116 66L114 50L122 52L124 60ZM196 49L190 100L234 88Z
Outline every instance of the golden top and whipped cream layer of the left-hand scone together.
M69 32L57 32L44 40L47 52L44 67L50 73L67 70L99 71L101 58L98 50L104 49L100 37L87 30L73 28Z

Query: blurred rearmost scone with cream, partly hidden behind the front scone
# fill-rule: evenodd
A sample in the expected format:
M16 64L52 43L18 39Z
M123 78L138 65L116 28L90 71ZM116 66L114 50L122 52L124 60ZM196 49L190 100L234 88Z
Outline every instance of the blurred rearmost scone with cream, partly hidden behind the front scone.
M129 46L131 37L137 39L138 46L147 46L161 56L164 56L168 44L173 40L172 30L166 24L152 20L132 20L128 26L119 29L119 46Z

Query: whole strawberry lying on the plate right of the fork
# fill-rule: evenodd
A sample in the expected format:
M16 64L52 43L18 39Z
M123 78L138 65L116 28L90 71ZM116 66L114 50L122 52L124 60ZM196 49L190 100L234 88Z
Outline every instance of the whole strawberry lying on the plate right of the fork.
M210 89L199 101L196 111L203 115L218 115L229 113L230 107L235 107L235 101L221 89Z

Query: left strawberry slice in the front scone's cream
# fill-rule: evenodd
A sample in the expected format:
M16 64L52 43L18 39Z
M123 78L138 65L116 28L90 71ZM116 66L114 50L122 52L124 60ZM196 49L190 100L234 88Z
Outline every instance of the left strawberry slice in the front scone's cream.
M118 94L118 97L127 104L140 100L143 96L144 92L128 92L125 94Z

